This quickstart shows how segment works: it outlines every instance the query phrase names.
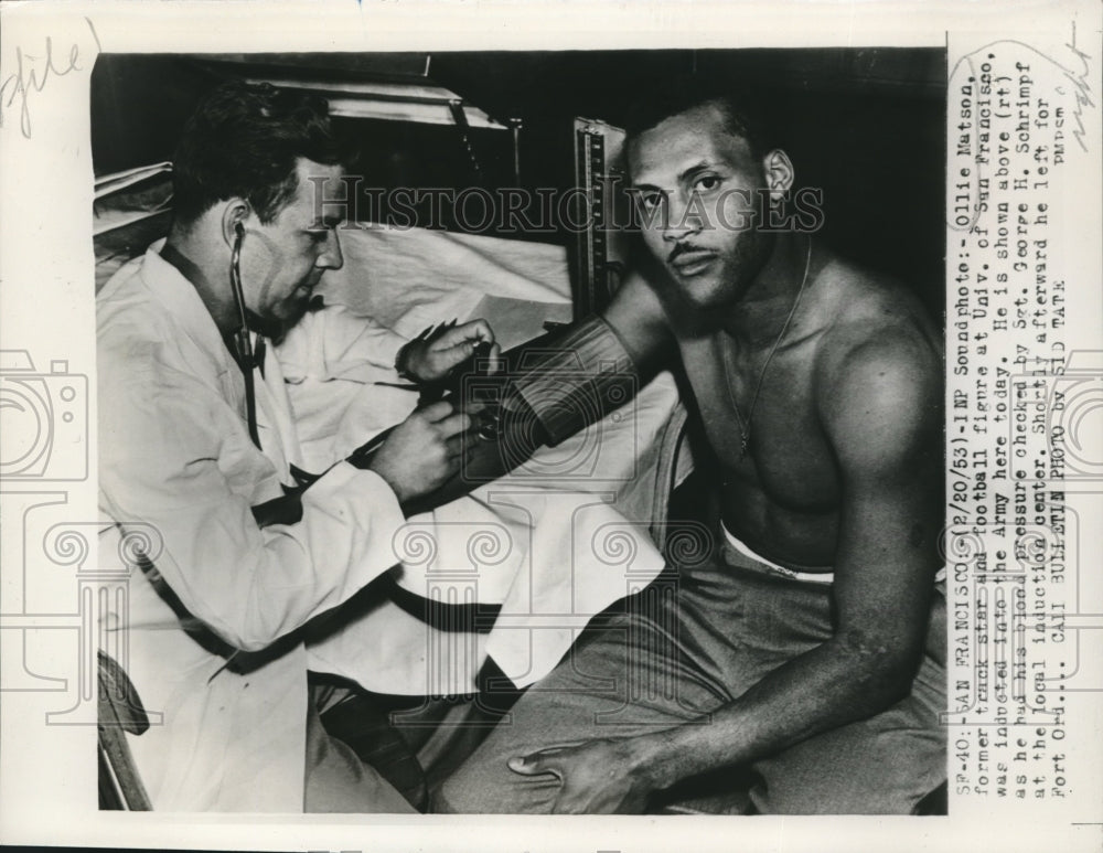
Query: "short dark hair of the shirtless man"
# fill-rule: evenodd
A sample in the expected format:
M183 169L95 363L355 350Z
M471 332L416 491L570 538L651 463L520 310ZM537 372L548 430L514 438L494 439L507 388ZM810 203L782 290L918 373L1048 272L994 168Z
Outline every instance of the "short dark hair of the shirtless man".
M725 115L728 131L746 140L753 157L764 157L780 147L765 98L750 89L698 74L665 78L645 89L625 120L630 141L671 116L716 104Z

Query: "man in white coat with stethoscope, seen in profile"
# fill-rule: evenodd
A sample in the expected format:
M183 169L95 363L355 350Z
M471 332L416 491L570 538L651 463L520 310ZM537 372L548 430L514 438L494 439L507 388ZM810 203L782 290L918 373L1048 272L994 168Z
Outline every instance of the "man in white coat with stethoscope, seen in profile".
M394 565L403 502L459 469L469 416L415 412L317 479L301 513L255 511L302 480L264 339L342 264L341 217L320 204L343 198L342 175L323 100L222 86L183 132L167 241L98 296L100 508L116 534L149 525L157 541L104 623L129 631L127 670L162 715L129 737L154 809L410 810L325 735L299 629ZM489 327L468 323L404 346L398 366L436 378L481 341Z

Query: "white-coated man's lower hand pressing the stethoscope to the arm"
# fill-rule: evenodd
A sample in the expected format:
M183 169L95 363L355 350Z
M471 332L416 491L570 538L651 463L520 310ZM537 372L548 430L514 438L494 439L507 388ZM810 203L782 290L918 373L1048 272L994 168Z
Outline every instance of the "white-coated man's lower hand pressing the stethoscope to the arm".
M387 481L400 503L427 494L460 469L464 446L474 445L460 434L470 428L471 416L451 403L419 408L390 431L368 469Z

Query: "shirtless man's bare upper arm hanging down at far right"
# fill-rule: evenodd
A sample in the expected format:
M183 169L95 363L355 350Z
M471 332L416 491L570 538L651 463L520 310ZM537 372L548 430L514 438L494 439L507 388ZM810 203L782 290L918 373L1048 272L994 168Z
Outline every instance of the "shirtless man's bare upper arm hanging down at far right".
M820 409L842 478L837 633L865 659L918 661L942 527L942 386L921 338L849 348L821 377Z

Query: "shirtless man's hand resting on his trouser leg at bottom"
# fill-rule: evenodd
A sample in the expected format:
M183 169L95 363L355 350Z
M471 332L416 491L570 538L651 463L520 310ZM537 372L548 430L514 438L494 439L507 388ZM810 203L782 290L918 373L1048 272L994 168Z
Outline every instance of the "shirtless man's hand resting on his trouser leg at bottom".
M653 790L632 738L552 746L510 759L523 776L559 779L553 814L642 814Z

